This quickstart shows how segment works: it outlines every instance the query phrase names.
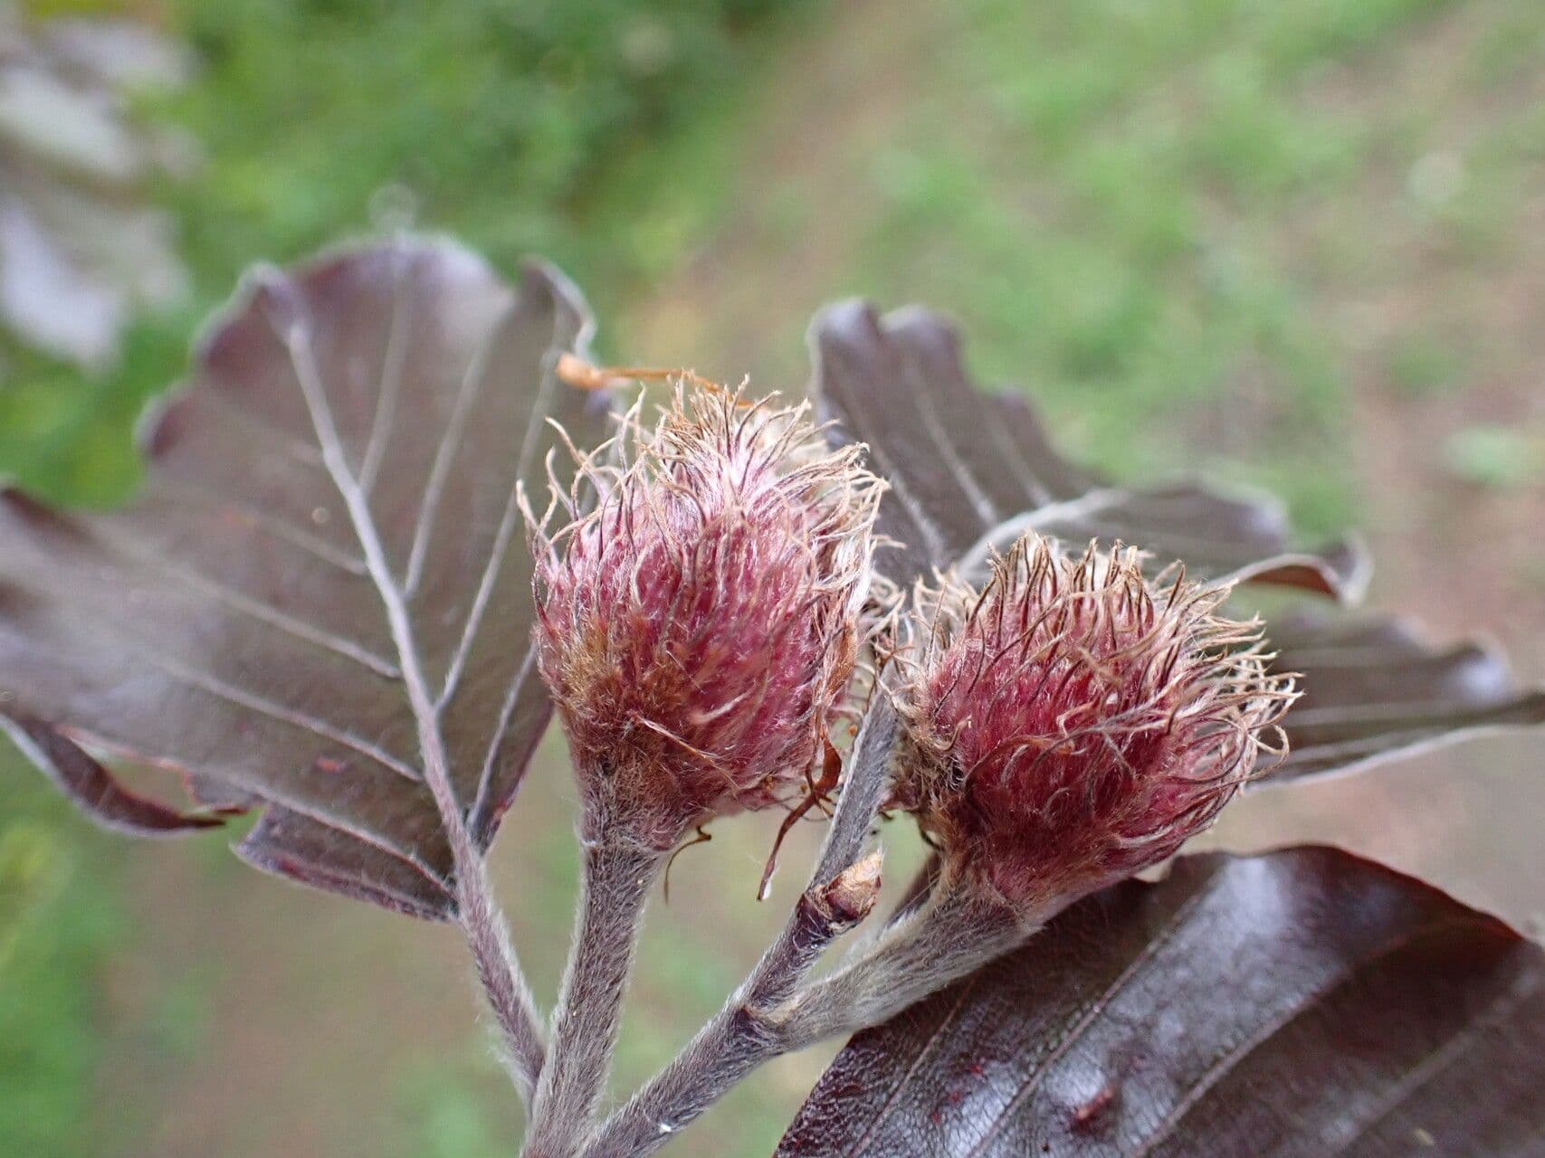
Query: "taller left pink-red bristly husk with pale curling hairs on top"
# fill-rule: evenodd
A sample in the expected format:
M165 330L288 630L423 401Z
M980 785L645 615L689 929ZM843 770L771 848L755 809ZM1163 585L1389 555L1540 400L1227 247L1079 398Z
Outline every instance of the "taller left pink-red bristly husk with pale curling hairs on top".
M541 673L587 801L652 848L803 784L853 676L878 480L805 409L678 391L533 530ZM576 503L569 503L570 511Z

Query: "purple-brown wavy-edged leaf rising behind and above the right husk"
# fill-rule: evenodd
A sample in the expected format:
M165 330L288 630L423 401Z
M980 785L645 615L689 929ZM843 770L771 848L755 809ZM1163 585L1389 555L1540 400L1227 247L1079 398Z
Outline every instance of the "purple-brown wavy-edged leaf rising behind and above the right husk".
M1131 491L1072 465L1024 398L970 383L959 338L936 313L879 317L840 303L816 318L811 347L811 394L834 422L831 437L868 443L873 469L890 482L881 530L901 545L879 565L902 585L1035 528L1078 545L1120 539L1163 562L1182 559L1196 577L1361 596L1361 548L1290 550L1285 513L1270 499L1196 485Z

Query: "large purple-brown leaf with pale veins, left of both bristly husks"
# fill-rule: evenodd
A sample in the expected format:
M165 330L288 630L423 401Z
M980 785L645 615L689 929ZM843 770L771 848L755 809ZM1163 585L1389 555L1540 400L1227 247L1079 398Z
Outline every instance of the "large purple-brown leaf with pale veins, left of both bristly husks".
M147 423L133 505L0 494L12 735L108 824L266 808L253 865L450 916L420 726L487 846L550 713L516 485L544 488L550 418L581 446L609 434L609 400L553 374L590 329L555 270L511 289L442 241L252 275ZM102 755L179 772L202 808L130 792Z

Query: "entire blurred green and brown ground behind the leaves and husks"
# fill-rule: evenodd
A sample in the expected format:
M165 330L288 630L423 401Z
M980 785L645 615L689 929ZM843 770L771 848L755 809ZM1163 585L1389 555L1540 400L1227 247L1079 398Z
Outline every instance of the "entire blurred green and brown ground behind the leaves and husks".
M1489 627L1545 675L1539 0L25 8L185 45L188 82L134 110L196 157L147 190L187 292L134 318L116 363L0 350L0 471L29 489L121 500L134 417L244 266L411 222L505 270L556 259L604 357L794 392L823 301L941 306L978 375L1032 391L1071 451L1270 486L1306 536L1363 527L1386 605ZM1537 920L1540 761L1465 752L1261 794L1225 835L1340 840ZM550 741L496 848L548 999L564 775ZM893 880L913 854L895 835ZM735 821L678 862L620 1087L779 922L799 851L757 906L768 838ZM0 1153L510 1153L519 1115L454 940L261 879L226 843L100 835L0 758ZM667 1152L768 1153L819 1067L769 1067Z

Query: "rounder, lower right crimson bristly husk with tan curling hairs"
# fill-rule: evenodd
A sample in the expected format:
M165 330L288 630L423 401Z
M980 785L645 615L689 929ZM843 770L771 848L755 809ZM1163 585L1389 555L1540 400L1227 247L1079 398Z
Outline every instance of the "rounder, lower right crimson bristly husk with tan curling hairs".
M981 593L921 590L895 803L958 883L1049 913L1171 855L1251 775L1293 699L1224 587L1031 534Z

